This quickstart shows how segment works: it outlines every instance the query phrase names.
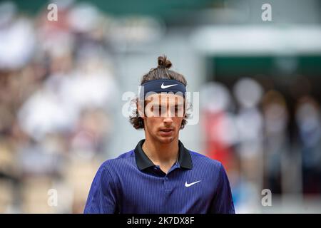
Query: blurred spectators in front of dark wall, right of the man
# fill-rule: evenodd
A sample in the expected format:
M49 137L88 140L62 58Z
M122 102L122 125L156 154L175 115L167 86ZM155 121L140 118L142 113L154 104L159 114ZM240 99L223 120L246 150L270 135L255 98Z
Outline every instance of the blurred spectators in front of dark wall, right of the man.
M264 189L299 202L321 194L320 100L311 90L300 95L310 81L298 78L291 105L284 91L265 90L255 78L201 91L205 151L228 170L238 212L260 212Z

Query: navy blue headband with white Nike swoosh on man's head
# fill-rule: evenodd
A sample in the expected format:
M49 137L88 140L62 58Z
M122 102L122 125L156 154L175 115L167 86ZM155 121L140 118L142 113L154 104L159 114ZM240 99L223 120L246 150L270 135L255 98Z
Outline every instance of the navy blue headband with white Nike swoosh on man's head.
M151 80L141 85L140 97L146 97L147 93L169 93L183 95L185 98L186 88L183 83L173 79L157 79ZM180 93L177 93L180 92Z

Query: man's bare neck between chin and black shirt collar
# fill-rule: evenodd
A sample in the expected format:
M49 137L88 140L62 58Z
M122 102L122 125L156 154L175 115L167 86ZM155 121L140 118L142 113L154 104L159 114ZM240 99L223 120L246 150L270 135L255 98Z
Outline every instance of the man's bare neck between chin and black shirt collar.
M146 138L142 148L155 165L173 165L178 160L178 138L168 143Z

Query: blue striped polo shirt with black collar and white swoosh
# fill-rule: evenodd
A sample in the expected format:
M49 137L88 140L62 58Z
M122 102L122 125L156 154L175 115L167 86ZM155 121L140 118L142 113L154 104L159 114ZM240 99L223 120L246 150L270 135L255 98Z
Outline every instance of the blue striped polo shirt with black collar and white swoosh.
M93 179L84 213L235 213L223 165L179 141L178 161L165 174L134 150L103 162Z

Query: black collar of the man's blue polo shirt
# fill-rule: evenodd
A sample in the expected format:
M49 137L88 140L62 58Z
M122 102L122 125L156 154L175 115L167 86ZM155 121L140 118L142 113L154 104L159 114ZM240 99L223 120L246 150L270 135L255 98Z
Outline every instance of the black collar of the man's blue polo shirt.
M135 158L136 164L139 170L145 170L148 167L155 166L155 164L147 157L146 153L142 149L142 145L145 140L141 140L138 142L135 148ZM186 169L193 169L192 158L190 157L190 152L184 147L183 143L178 140L178 163L180 167L184 167Z

